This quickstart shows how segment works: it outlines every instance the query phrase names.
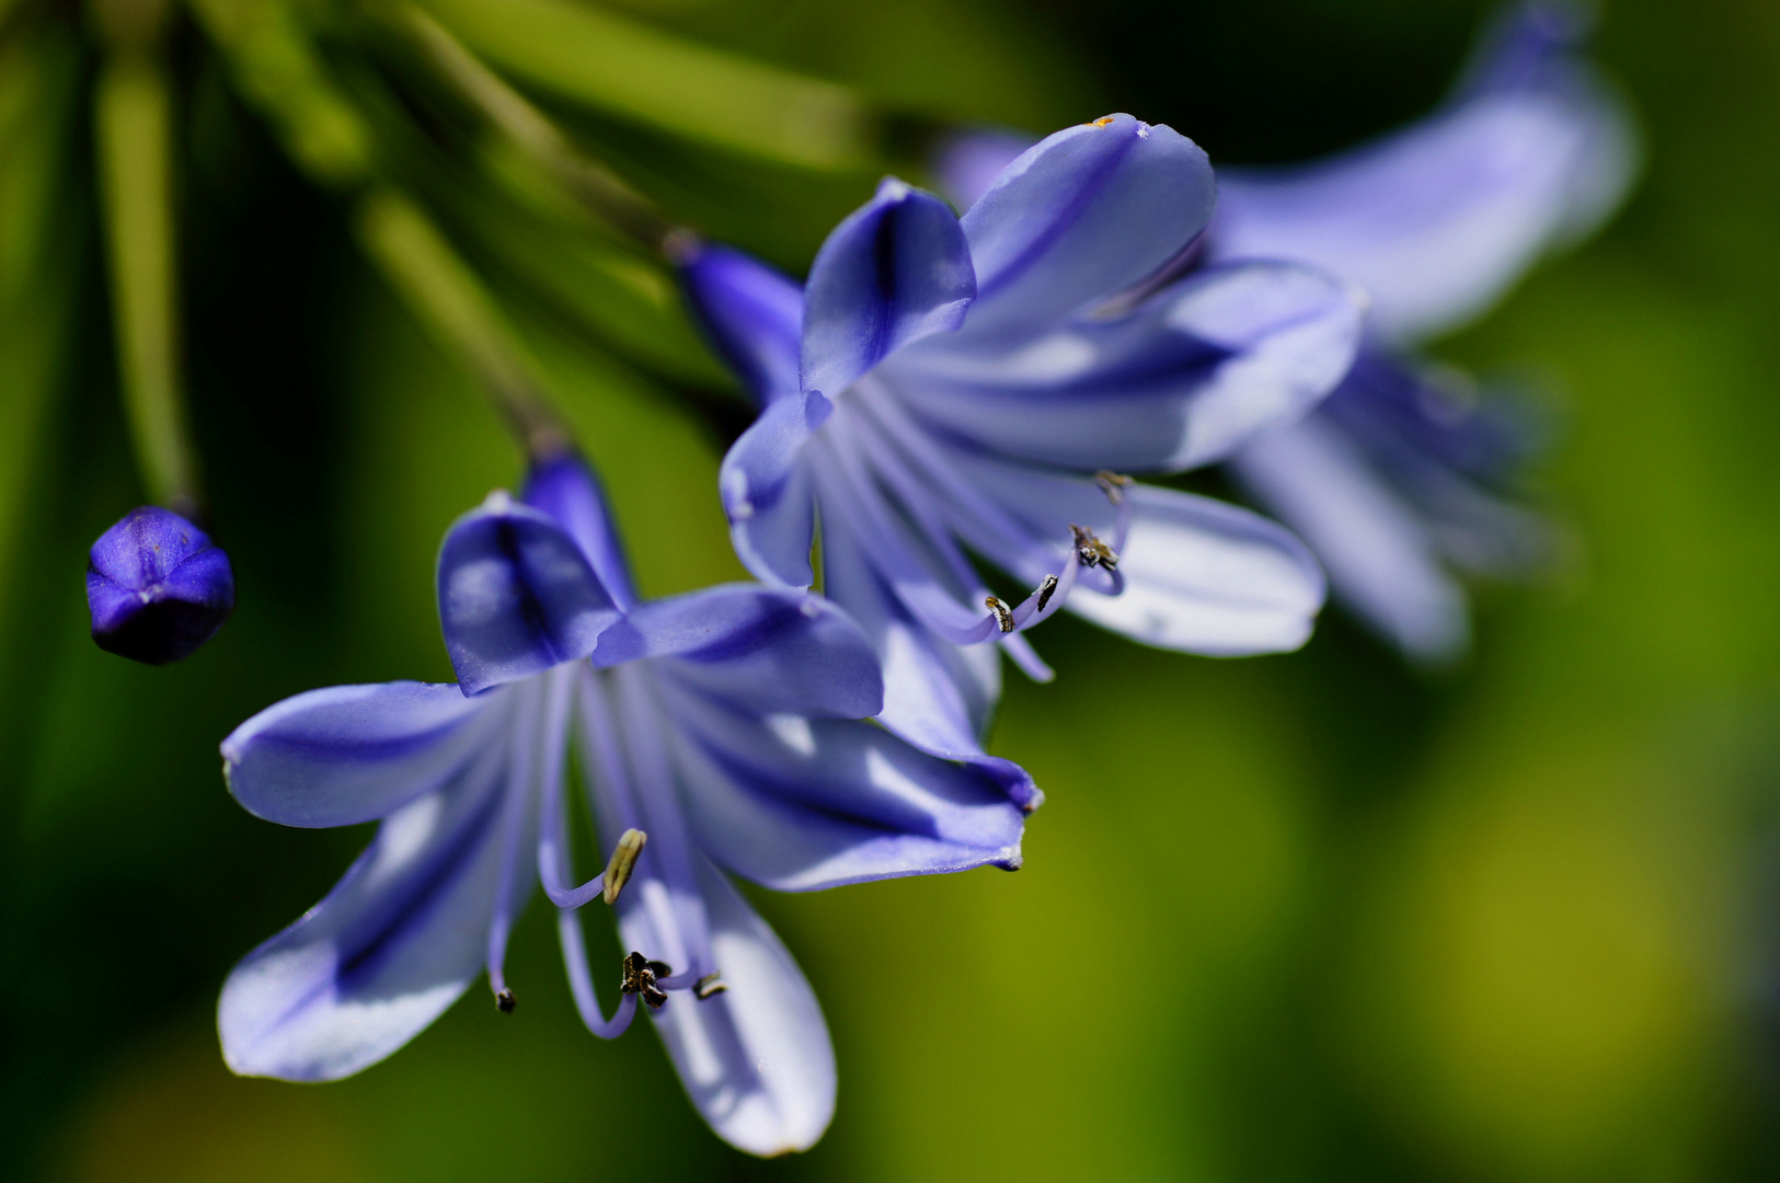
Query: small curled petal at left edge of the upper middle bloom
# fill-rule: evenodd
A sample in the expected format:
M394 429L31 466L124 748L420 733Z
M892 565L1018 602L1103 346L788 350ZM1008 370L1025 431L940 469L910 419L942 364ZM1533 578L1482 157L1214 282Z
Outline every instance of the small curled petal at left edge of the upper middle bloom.
M835 409L824 395L790 395L767 406L723 457L717 487L735 557L755 578L808 587L815 502L799 464L805 441Z

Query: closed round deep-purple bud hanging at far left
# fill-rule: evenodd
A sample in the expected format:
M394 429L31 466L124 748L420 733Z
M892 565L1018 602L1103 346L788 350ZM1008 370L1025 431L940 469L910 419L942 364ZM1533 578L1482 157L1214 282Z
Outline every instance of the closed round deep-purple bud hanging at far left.
M235 610L235 571L208 534L171 509L142 505L93 544L87 608L101 649L166 665L222 628Z

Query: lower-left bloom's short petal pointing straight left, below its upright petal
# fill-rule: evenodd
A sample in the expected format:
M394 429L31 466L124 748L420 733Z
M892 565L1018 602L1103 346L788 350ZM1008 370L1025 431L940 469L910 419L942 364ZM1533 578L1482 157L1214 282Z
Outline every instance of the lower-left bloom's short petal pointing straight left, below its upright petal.
M440 788L488 736L490 699L390 681L310 690L222 740L222 774L247 813L279 825L356 825Z

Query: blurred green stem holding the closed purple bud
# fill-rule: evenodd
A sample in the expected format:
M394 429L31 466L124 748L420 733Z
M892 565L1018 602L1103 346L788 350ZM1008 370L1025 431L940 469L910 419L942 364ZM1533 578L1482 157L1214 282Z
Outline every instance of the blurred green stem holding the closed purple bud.
M94 93L112 320L130 441L153 502L198 509L198 459L180 390L173 114L150 48L110 53Z

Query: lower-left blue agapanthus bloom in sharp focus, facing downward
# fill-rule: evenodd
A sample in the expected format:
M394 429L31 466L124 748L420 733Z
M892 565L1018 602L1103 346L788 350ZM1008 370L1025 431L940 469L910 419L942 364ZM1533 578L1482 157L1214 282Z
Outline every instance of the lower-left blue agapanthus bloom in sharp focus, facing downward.
M993 779L863 720L881 706L878 660L831 603L758 585L639 603L573 457L534 468L520 502L495 493L461 518L438 583L459 685L313 690L222 744L230 792L258 817L383 822L328 898L230 975L230 1067L347 1076L484 970L513 1009L507 934L541 882L596 1035L623 1032L641 998L721 1137L756 1155L808 1147L835 1105L828 1030L728 875L805 891L1013 868L1024 813ZM612 850L584 884L570 733ZM595 897L616 897L632 950L607 966L612 1018L577 914Z

